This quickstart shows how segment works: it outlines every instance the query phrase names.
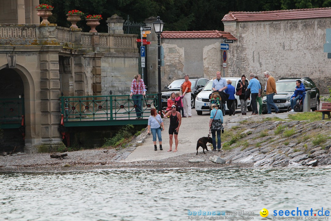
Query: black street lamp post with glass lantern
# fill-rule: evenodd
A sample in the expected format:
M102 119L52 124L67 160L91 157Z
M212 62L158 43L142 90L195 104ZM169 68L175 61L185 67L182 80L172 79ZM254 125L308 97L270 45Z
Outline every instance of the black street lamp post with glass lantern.
M163 31L164 23L160 20L160 16L157 17L157 20L153 23L155 33L158 35L158 81L159 81L159 92L158 92L158 112L162 111L162 92L161 92L161 42L160 36Z

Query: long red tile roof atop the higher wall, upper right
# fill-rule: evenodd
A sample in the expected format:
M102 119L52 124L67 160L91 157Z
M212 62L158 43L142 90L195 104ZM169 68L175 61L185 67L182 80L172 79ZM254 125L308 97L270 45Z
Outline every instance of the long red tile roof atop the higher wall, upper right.
M267 12L229 12L222 21L273 21L331 18L331 8L293 9Z

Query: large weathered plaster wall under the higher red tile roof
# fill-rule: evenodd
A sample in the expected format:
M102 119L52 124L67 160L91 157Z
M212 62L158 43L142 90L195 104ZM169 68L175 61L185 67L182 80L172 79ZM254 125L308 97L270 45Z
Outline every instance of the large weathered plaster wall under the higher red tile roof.
M228 51L228 75L254 73L262 83L265 71L276 80L308 76L326 92L331 85L331 59L323 52L323 44L325 29L330 27L331 19L224 22L224 31L238 38Z

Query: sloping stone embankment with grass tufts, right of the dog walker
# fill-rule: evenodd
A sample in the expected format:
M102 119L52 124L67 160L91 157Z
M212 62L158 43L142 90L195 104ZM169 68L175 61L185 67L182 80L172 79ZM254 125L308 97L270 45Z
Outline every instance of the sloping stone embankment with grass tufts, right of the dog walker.
M288 119L287 114L277 115L284 119L275 116L229 119L221 157L231 164L249 163L254 167L331 164L331 121L296 121Z

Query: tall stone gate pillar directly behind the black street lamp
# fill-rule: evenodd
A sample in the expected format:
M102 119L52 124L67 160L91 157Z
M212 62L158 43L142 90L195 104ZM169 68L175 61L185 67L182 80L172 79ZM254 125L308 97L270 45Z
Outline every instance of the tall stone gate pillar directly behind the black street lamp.
M158 36L155 33L153 23L156 17L149 17L145 20L146 27L152 27L151 34L147 35L147 41L151 44L146 45L146 67L148 73L148 93L158 92Z

